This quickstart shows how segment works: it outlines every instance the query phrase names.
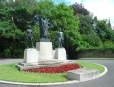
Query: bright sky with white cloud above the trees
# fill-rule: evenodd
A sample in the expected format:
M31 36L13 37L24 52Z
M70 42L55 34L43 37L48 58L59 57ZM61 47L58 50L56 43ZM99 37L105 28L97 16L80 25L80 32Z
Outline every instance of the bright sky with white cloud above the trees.
M65 2L67 5L82 3L83 6L100 20L110 19L114 26L114 0L53 0L55 4Z

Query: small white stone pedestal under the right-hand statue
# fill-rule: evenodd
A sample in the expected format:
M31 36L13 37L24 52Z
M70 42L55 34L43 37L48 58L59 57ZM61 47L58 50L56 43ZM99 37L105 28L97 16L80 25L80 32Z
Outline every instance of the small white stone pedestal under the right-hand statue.
M65 48L56 48L54 58L58 60L67 60Z

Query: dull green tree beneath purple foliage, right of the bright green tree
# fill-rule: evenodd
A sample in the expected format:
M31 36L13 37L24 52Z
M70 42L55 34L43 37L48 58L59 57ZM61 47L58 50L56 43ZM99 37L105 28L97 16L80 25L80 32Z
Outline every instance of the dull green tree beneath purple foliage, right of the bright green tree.
M92 17L82 14L77 16L79 17L79 32L83 37L83 41L86 41L85 48L102 46L102 42L94 30ZM86 45L87 43L88 45ZM82 45L84 44L82 43Z

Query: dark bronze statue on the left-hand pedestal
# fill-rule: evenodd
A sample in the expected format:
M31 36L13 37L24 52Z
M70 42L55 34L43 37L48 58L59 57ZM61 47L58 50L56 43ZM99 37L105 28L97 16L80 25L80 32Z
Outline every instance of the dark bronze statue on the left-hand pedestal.
M27 48L29 48L29 45L30 44L34 48L34 45L33 45L33 36L32 36L32 29L31 29L31 26L30 25L27 26L26 38L27 38Z

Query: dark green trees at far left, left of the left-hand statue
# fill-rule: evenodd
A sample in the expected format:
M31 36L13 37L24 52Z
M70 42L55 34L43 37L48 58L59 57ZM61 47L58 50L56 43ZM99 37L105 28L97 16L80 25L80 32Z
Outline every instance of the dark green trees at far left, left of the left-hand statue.
M34 6L31 4L34 4L34 1L16 0L15 3L11 3L12 0L9 2L4 0L0 3L4 6L0 8L0 57L23 57L26 48L26 25L32 20Z

